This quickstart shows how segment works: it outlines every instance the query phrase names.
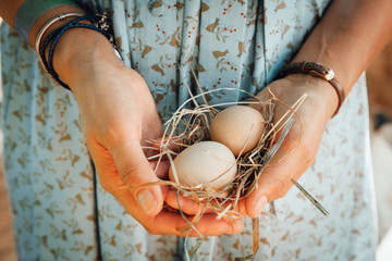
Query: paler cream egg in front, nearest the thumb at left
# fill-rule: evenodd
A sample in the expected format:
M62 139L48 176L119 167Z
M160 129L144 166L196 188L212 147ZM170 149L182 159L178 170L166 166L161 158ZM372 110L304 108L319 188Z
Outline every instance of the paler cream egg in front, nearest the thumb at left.
M216 141L201 141L184 149L175 157L173 165L180 184L203 185L209 191L220 191L236 174L234 154ZM169 179L176 182L173 165L169 169Z

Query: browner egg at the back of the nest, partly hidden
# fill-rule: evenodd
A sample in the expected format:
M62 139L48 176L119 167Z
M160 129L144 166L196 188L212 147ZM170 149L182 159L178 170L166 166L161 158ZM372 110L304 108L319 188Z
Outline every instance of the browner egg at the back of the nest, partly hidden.
M234 105L219 112L210 126L211 140L225 145L234 156L255 148L261 138L265 120L259 111Z

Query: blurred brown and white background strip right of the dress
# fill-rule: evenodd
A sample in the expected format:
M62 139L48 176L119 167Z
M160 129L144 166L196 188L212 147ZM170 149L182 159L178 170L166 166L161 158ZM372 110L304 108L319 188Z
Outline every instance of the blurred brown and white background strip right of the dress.
M367 70L370 142L379 215L377 261L392 260L392 41Z

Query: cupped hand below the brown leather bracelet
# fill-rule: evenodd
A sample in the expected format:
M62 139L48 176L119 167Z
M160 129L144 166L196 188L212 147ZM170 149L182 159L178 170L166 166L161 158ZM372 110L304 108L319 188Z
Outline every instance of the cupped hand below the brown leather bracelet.
M261 173L258 189L246 198L246 213L256 217L265 204L283 197L292 187L291 179L297 179L313 163L327 122L338 107L338 95L326 80L309 75L293 74L278 79L260 91L257 97L268 100L268 88L289 105L304 94L307 98L297 111L297 116L283 144ZM287 109L275 103L273 121L277 122ZM257 109L257 108L256 108Z

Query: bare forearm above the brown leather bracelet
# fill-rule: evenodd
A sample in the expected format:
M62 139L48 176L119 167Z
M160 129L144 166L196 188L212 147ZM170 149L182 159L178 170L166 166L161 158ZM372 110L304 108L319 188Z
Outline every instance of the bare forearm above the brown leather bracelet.
M392 1L335 0L293 62L331 67L347 95L392 36Z

